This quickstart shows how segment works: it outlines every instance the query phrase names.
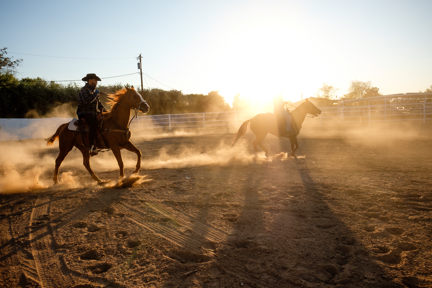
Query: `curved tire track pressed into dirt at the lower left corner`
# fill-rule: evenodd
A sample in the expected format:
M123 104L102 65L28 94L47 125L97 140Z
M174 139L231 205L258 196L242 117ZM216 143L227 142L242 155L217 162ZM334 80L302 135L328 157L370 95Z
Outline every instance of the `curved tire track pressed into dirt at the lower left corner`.
M75 284L73 277L63 260L53 253L56 249L54 236L51 225L46 223L49 221L50 208L51 196L39 196L29 219L30 253L33 260L23 259L22 265L29 267L25 269L29 272L37 272L38 282L43 288L70 287Z

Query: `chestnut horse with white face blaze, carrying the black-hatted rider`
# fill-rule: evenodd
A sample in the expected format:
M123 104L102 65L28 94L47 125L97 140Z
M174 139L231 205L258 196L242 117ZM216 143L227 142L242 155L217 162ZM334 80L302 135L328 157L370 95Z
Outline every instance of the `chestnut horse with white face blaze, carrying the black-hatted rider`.
M103 114L102 119L102 130L100 133L106 141L108 147L112 150L115 158L118 162L118 167L120 168L120 177L123 177L123 160L121 159L120 149L124 148L126 150L132 151L137 154L137 166L133 173L138 173L141 167L141 151L137 147L133 146L130 142L130 130L128 127L130 119L130 111L134 109L137 111L142 111L147 113L150 109L146 101L143 100L140 94L131 86L131 88L118 90L113 95L108 95L110 101L108 104L112 104L112 108L109 112ZM61 162L67 156L67 154L72 150L73 146L79 149L83 153L84 166L90 175L92 175L93 180L98 183L104 181L100 180L95 173L90 168L90 154L89 154L89 136L82 137L80 132L71 131L68 127L69 123L61 124L57 128L56 133L53 136L45 139L47 145L54 145L54 141L57 139L59 142L60 153L55 160L55 170L54 170L54 184L58 182L58 168ZM84 138L84 139L82 139ZM96 137L97 138L97 137ZM101 143L97 140L96 144L99 149L102 149Z

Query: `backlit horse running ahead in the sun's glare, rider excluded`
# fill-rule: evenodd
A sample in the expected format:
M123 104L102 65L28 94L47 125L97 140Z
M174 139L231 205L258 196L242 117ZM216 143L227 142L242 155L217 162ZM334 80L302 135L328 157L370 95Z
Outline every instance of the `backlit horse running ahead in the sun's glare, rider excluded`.
M277 124L276 116L273 113L267 114L258 114L245 121L241 124L237 133L235 134L235 139L233 142L237 141L243 134L248 130L248 125L251 127L251 131L257 136L252 142L254 144L255 155L257 155L257 145L259 145L265 152L266 157L268 157L268 151L263 146L262 142L264 138L266 138L267 134L270 133L277 137L287 137L289 138L289 142L291 143L291 156L296 157L294 152L299 148L299 142L297 142L297 135L300 133L300 129L302 128L302 123L305 120L306 114L312 114L314 116L318 116L321 114L321 110L318 109L311 101L306 100L299 105L299 107L295 108L291 111L291 129L294 132L294 135L286 136L280 135L280 130ZM250 123L250 124L249 124Z

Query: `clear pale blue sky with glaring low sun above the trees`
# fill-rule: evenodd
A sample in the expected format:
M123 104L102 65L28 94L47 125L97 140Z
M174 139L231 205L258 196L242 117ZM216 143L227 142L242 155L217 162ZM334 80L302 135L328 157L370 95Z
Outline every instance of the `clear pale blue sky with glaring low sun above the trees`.
M432 1L1 1L0 46L21 77L81 79L138 72L184 93L219 90L297 101L323 82L346 93L432 85ZM146 77L150 87L169 89ZM103 79L140 85L138 74ZM80 82L80 84L83 82ZM144 85L146 83L144 82Z

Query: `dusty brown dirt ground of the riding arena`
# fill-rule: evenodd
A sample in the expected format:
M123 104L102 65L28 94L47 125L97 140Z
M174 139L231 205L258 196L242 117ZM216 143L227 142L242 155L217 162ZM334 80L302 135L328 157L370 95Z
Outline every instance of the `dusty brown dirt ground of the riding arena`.
M44 186L0 195L0 286L432 287L430 125L304 127L298 159L267 136L268 161L251 133L232 137L132 138L146 177L130 187L111 152L91 159L107 187L78 150L53 187L58 142L4 142L37 146L13 184L42 165Z

